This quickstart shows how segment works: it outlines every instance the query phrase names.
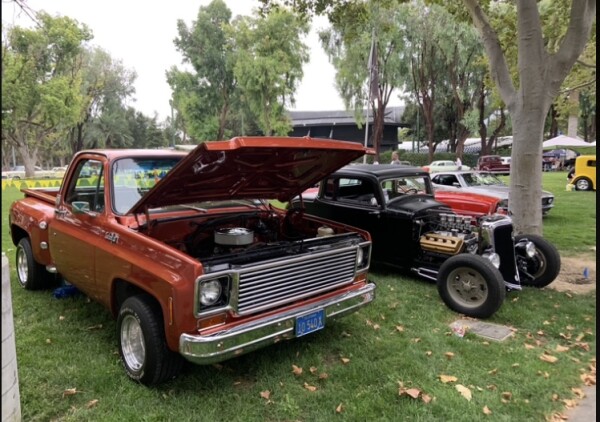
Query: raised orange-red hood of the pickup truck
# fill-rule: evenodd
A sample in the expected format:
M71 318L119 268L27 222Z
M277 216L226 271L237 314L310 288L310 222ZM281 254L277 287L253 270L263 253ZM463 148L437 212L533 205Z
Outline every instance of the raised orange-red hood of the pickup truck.
M194 148L130 210L226 199L287 202L373 150L309 137L238 137Z

